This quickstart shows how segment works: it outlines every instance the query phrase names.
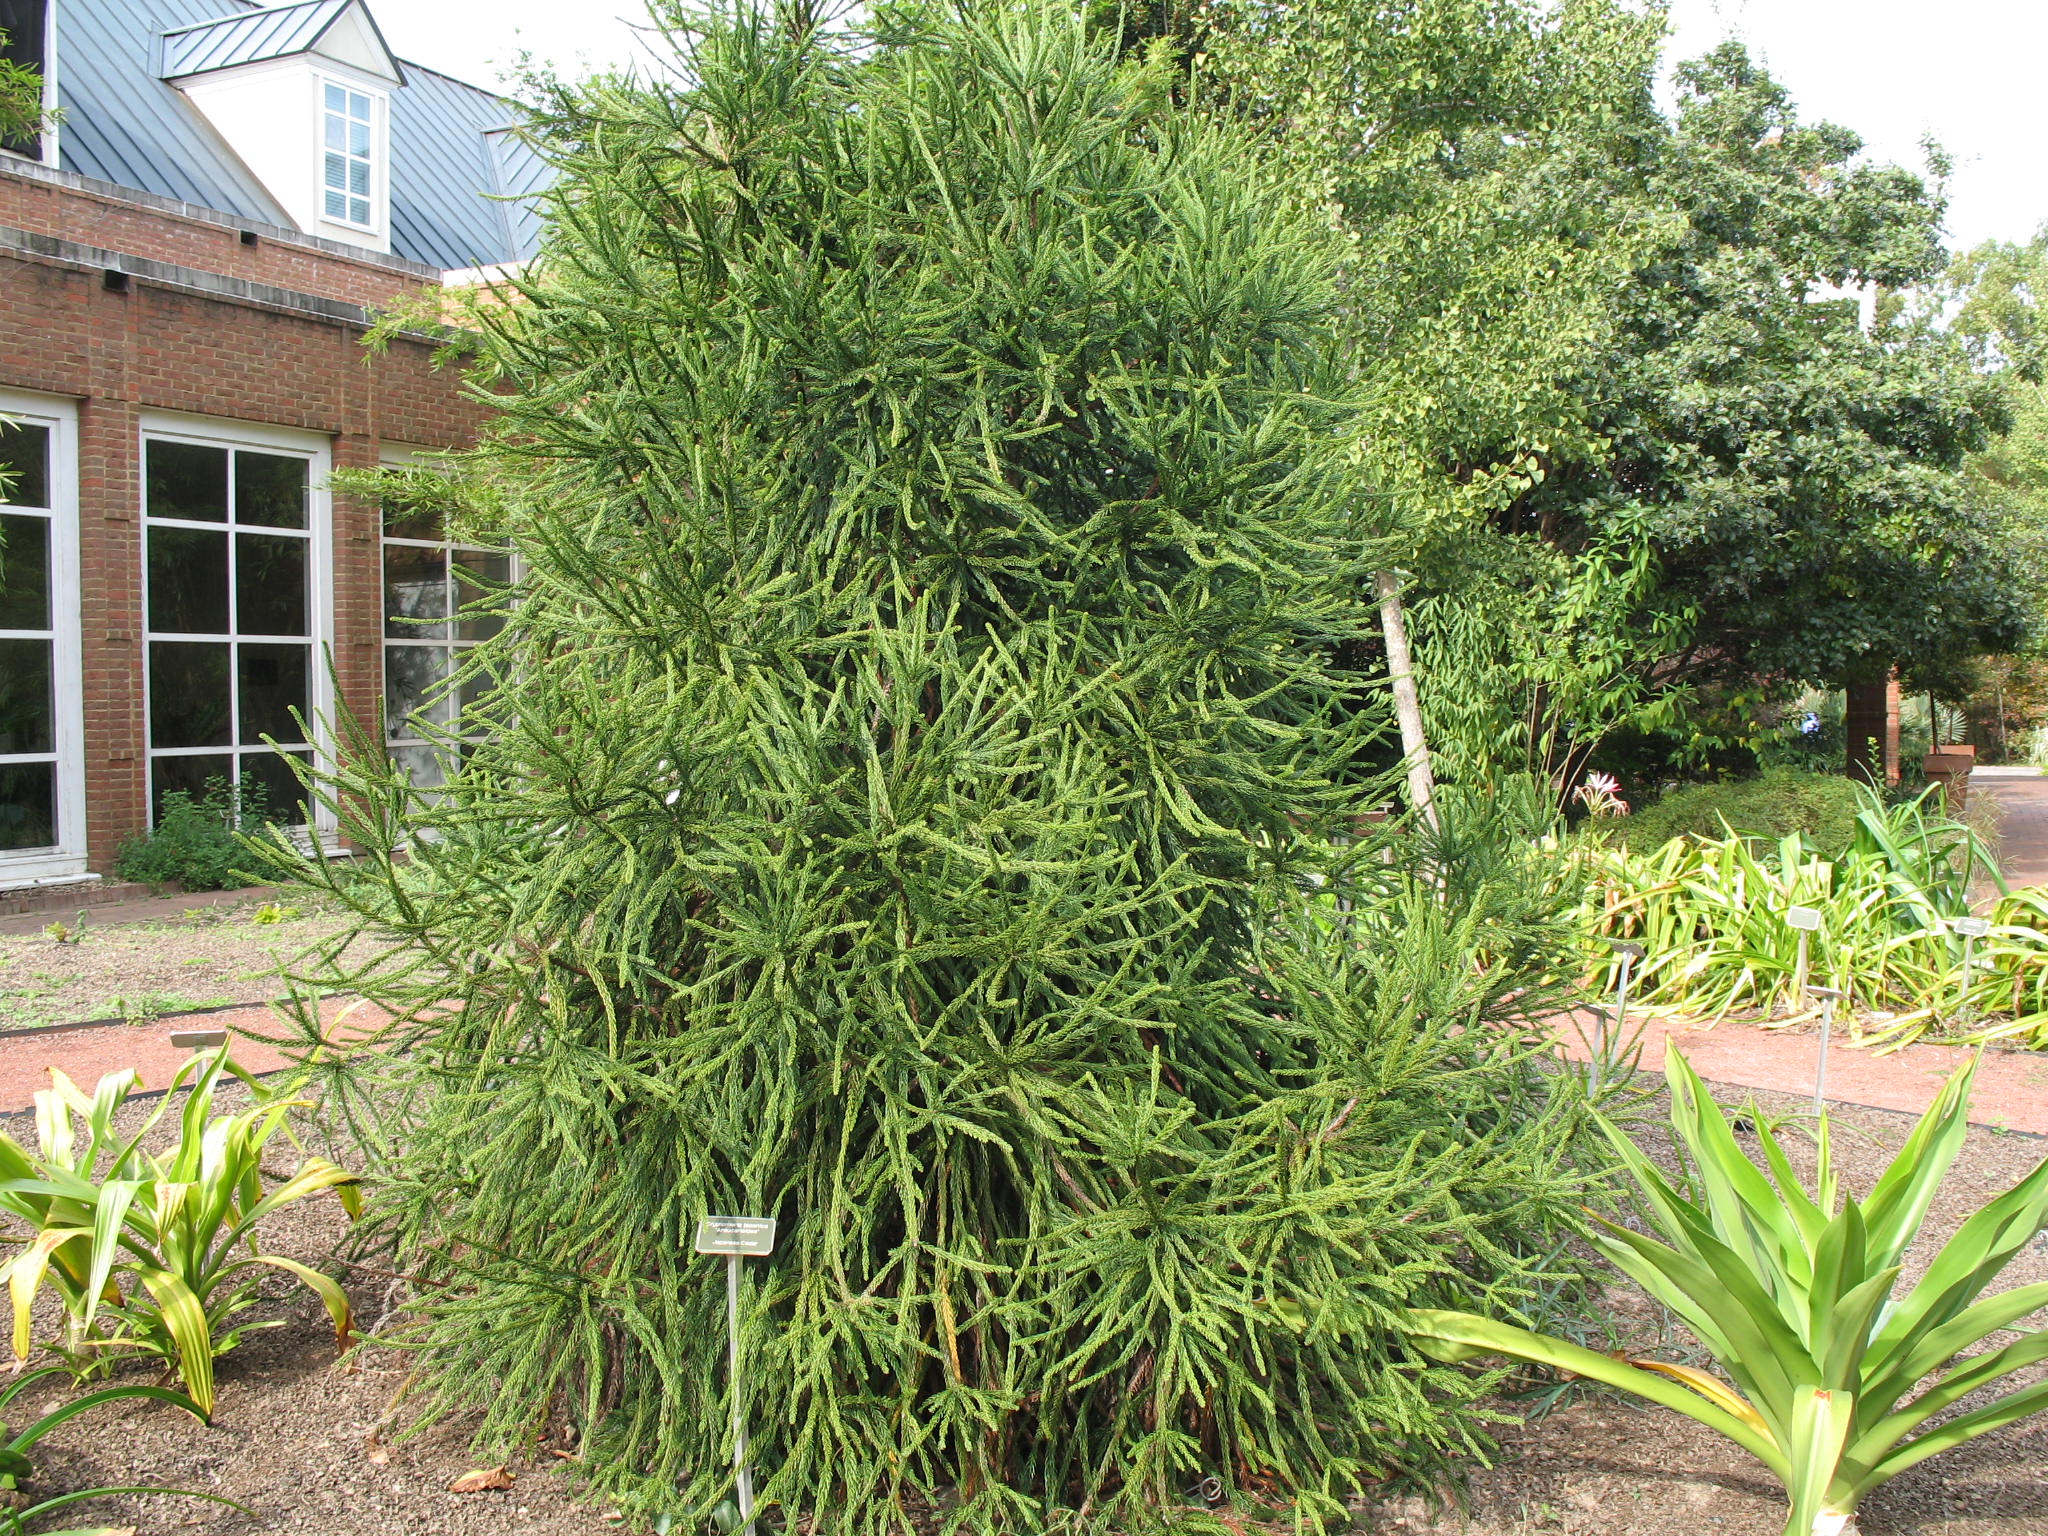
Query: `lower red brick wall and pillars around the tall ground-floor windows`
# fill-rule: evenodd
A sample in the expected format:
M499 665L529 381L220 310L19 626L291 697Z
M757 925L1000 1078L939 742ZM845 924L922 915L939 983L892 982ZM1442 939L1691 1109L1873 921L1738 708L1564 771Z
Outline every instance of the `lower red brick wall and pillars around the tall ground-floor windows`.
M18 190L12 182L0 176ZM0 213L0 221L6 217ZM78 227L53 233L121 244ZM233 231L221 233L223 250L238 254ZM252 258L262 260L262 252L256 246ZM199 264L162 246L133 254ZM285 279L266 272L262 281ZM334 283L328 293L340 297ZM92 868L106 872L115 846L145 821L137 414L172 410L324 432L336 467L362 467L377 463L381 440L465 444L483 412L461 395L459 373L436 371L420 342L397 340L371 356L350 326L158 289L145 279L113 293L100 272L6 254L0 385L80 401L86 805ZM334 659L348 705L371 719L383 631L377 539L375 508L336 498Z

